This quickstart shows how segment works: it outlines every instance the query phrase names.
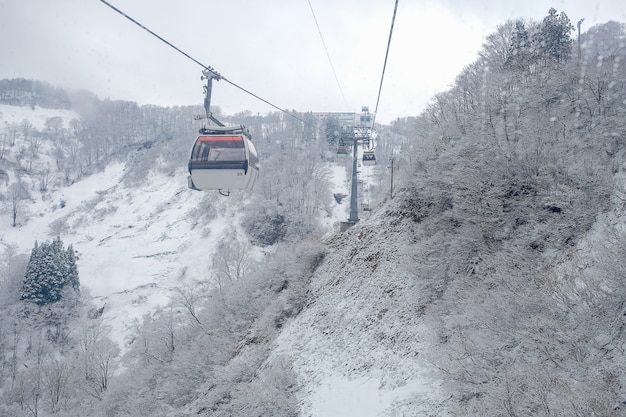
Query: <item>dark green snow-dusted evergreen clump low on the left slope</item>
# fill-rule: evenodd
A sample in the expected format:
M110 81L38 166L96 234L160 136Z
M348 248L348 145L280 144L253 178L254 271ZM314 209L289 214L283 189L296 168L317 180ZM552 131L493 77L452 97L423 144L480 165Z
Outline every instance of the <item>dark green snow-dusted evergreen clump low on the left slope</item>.
M54 303L62 298L68 285L75 291L80 287L72 246L65 250L60 237L52 243L38 245L35 242L26 267L21 299L38 305Z

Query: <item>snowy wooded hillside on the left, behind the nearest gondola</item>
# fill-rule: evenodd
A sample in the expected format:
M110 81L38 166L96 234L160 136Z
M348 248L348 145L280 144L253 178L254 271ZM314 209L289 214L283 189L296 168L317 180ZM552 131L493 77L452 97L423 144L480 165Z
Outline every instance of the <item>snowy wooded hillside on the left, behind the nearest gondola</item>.
M330 174L351 166L323 121L214 108L250 129L262 164L253 193L226 198L187 188L200 107L138 106L22 79L1 85L2 415L173 412L260 317L268 343L273 323L302 307L323 256L311 236L336 220ZM381 140L381 157L390 149ZM388 171L378 172L386 183ZM370 191L381 199L375 183ZM39 255L60 238L80 282L64 276L73 263ZM221 377L236 387L239 374ZM164 397L176 405L155 401Z

